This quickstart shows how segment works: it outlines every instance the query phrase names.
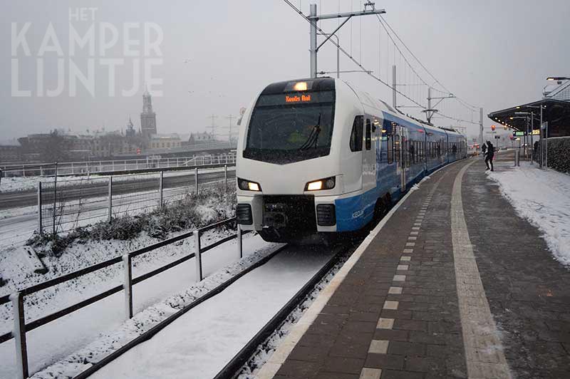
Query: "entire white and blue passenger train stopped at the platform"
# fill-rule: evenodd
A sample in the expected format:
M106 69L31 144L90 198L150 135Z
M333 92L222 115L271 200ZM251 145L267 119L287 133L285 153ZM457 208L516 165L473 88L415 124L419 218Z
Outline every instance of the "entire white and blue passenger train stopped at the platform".
M339 79L273 83L242 118L237 220L271 242L353 232L425 175L466 156L464 135Z

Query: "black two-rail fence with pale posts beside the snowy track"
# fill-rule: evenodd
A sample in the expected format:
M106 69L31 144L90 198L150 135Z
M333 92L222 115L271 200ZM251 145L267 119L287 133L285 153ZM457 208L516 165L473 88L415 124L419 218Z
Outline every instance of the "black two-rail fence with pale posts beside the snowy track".
M92 303L102 300L108 296L116 294L120 291L124 291L125 294L125 318L133 318L133 285L140 283L141 281L145 281L147 279L152 278L157 274L166 271L167 269L171 269L179 264L184 263L192 258L195 258L195 269L196 269L196 281L202 281L203 274L202 274L202 254L206 251L214 249L214 247L223 244L224 242L228 242L232 239L237 238L237 249L239 250L239 257L242 258L243 250L242 250L242 230L237 225L237 233L231 234L228 237L224 237L219 239L218 241L209 244L208 246L202 247L200 244L200 236L209 230L215 229L217 227L227 227L228 225L232 226L236 224L236 218L227 219L222 222L217 222L216 224L211 224L207 227L203 227L197 229L192 232L187 232L184 234L180 234L177 237L172 237L162 242L158 242L156 244L152 244L150 246L146 246L142 249L138 249L135 251L131 251L128 254L124 254L123 256L116 256L115 258L108 259L107 261L100 262L99 264L95 264L93 266L86 267L85 269L81 269L71 274L66 274L60 276L55 279L51 279L45 281L41 284L36 284L35 286L28 287L26 289L21 289L20 291L15 292L11 295L4 295L0 297L0 306L6 303L12 303L12 309L14 312L14 330L8 333L4 333L0 335L0 343L4 343L6 341L11 340L11 338L15 338L16 340L16 365L17 371L19 374L19 378L28 378L29 370L28 370L28 349L27 349L27 340L26 340L26 332L33 331L33 329L39 328L40 326L46 325L47 323L51 323L51 321L55 321L58 318L66 316L70 313L80 310ZM187 239L193 237L195 239L195 251L191 254L187 254L186 256L182 256L182 258L177 259L175 261L166 264L165 266L161 266L157 269L154 269L146 274L142 274L136 278L133 278L133 264L132 259L135 256L139 256L141 254L145 254L149 251L159 249L160 247L167 246L169 244L174 244L175 242L182 241L183 239ZM34 321L29 321L26 323L26 316L25 316L25 306L24 306L24 298L25 296L29 296L31 294L35 294L38 291L43 289L48 289L53 286L57 286L58 284L62 284L66 281L72 281L79 276L87 275L92 272L105 269L106 267L113 266L115 264L122 264L124 270L124 281L122 285L114 286L107 291L87 298L79 303L73 304L72 306L68 306L67 308L63 308L60 311L56 311L55 313L51 313L47 316L43 316L38 318Z

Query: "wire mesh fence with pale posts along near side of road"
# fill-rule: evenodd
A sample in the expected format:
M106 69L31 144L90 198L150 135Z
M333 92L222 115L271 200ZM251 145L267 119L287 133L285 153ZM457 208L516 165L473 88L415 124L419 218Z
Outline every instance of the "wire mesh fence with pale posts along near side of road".
M26 242L34 232L61 234L95 222L150 212L208 187L228 188L234 185L234 177L234 170L224 166L38 182L36 214L28 213L4 225L0 246Z

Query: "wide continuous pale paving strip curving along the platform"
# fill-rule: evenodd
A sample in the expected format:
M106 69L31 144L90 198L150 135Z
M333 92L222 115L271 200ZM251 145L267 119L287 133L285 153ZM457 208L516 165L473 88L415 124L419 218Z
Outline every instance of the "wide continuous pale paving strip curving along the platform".
M473 161L475 162L475 161ZM504 358L503 347L489 309L473 246L469 238L463 202L461 181L470 165L465 165L455 177L451 199L451 234L455 283L470 378L512 378Z

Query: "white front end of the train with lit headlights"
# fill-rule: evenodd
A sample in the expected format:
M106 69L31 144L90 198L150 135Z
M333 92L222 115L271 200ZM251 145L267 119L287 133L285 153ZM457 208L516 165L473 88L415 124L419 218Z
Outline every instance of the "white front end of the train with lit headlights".
M337 231L335 200L346 180L339 146L351 117L336 106L339 96L331 78L286 81L268 85L248 108L236 169L243 230L271 242Z

